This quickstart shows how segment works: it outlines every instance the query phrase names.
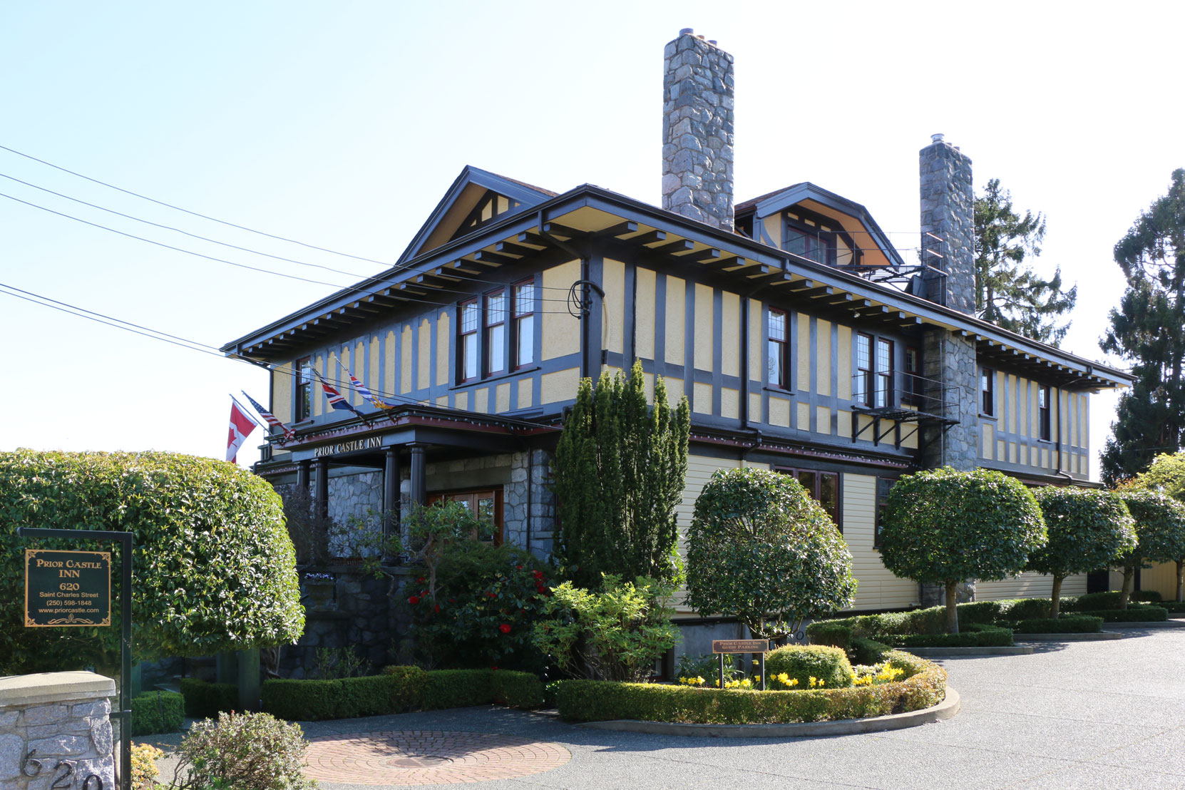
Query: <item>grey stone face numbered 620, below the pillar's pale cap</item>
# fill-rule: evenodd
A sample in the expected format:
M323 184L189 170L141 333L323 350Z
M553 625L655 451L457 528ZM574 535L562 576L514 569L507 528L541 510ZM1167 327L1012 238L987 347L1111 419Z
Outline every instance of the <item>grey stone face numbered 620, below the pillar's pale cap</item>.
M66 771L63 760L69 760L73 765L70 788L92 790L97 786L94 781L83 783L87 777L96 776L104 790L114 790L110 712L110 702L92 693L34 705L0 704L0 788L49 788L63 777ZM21 763L34 750L21 771ZM32 760L40 762L39 770Z

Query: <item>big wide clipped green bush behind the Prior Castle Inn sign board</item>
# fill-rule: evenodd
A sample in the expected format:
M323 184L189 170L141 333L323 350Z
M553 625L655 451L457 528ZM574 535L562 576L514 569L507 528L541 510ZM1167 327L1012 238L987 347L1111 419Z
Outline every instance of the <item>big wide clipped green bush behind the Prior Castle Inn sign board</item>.
M280 496L261 477L172 452L0 452L0 674L110 670L120 655L117 622L24 628L21 617L25 548L110 546L18 538L18 527L135 534L133 638L141 660L284 644L305 629ZM114 604L117 570L111 586ZM117 621L120 608L111 609Z

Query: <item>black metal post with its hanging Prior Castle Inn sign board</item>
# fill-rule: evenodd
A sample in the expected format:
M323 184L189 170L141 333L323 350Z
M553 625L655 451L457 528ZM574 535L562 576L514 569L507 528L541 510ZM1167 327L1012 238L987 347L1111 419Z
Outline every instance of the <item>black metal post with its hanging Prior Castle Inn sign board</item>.
M17 527L21 538L110 540L120 544L120 788L132 790L132 546L130 532ZM110 552L25 550L25 628L111 624Z

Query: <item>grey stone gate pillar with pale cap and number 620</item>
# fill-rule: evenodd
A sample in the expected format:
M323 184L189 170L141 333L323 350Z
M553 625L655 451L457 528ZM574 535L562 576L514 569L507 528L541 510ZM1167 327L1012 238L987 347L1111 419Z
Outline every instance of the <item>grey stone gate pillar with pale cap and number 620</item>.
M114 790L113 696L115 681L92 672L0 677L0 788L57 785L69 760L70 788Z

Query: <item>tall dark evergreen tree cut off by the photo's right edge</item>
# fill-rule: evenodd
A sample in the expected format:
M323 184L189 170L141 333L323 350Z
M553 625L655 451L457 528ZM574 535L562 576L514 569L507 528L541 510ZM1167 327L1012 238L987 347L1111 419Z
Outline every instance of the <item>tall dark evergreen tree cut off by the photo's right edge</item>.
M1103 351L1132 360L1136 381L1120 397L1114 437L1102 454L1103 480L1133 477L1157 454L1185 439L1185 169L1115 245L1127 290L1110 311Z

